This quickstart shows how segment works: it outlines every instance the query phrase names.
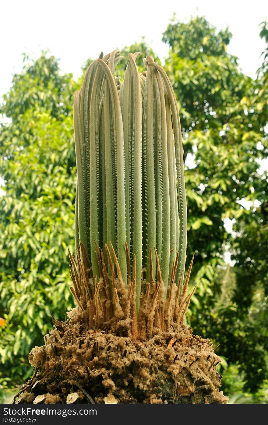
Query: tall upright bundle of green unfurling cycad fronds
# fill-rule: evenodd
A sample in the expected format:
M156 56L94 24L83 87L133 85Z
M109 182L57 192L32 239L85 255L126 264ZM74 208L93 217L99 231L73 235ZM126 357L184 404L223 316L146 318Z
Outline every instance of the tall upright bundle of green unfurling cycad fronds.
M72 291L78 305L93 320L90 326L96 325L97 318L100 326L100 321L105 323L114 316L117 297L123 309L127 307L125 297L132 305L135 298L135 312L129 314L142 328L144 321L139 316L149 312L149 298L158 291L154 300L154 309L159 309L157 327L165 329L170 325L165 320L167 304L172 310L175 281L179 277L183 282L186 258L181 126L166 73L148 56L144 60L147 72L139 74L137 56L129 55L122 84L113 77L120 52L97 59L75 95L75 239L84 263L89 258L92 294L105 300L105 305L102 308L102 303L96 303L79 287L81 279L76 276L82 273L82 262L70 256ZM186 286L188 280L189 276ZM108 306L99 296L103 284L111 301ZM189 301L186 290L183 297L182 285L177 292L177 306L181 300L185 309ZM126 314L122 312L122 317L127 318ZM173 316L174 311L169 322Z

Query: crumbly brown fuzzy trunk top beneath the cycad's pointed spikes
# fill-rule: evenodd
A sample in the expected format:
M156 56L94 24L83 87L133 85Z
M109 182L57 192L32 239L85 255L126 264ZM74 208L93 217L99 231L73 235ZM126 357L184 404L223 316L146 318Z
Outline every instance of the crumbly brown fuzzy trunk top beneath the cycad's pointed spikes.
M15 403L219 403L228 402L209 340L179 323L148 340L133 339L118 325L111 331L86 329L82 312L34 347L35 368Z

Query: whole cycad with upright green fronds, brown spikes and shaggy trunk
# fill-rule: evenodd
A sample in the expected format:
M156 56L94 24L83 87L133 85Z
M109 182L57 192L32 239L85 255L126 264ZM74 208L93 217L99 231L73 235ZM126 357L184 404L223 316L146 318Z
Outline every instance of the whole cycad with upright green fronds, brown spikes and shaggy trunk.
M184 324L187 210L172 85L152 57L101 55L74 98L77 165L71 291L15 402L226 403L212 343ZM19 396L19 397L18 397Z

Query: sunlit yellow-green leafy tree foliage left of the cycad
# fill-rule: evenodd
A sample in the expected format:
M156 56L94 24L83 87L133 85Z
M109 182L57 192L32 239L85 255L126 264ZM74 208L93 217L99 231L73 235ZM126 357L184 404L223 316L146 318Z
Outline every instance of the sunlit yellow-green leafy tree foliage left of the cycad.
M31 374L28 353L51 329L50 310L73 306L68 247L74 238L75 153L71 75L43 54L24 59L1 107L0 379ZM6 121L6 122L5 122Z

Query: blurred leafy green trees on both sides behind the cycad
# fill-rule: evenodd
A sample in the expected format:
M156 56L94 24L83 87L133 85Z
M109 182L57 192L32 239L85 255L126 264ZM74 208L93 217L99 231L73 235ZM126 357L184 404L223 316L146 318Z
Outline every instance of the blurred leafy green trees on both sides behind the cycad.
M268 44L267 23L260 36ZM173 17L163 34L170 47L163 66L181 115L188 258L195 253L191 282L198 285L188 322L195 334L220 344L219 370L231 402L268 402L268 201L267 173L260 172L268 150L268 50L252 79L228 54L230 39L228 28L217 32L204 17L189 23ZM147 54L160 62L144 39L121 51L141 51L141 71ZM61 75L59 61L45 53L34 62L25 57L24 64L0 110L6 121L0 129L2 386L32 373L28 353L51 329L49 311L64 320L73 306L67 248L74 249L72 111L81 79ZM124 67L123 60L116 74ZM232 233L226 219L235 220ZM224 261L226 246L234 266Z

